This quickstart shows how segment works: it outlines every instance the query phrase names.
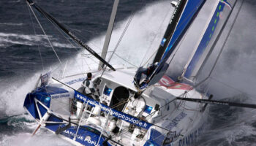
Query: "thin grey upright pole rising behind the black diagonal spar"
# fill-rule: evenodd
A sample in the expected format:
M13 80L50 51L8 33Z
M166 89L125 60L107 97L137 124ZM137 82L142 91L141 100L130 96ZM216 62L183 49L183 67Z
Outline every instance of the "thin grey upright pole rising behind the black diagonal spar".
M109 45L110 37L111 37L112 31L113 31L113 25L114 25L114 21L115 21L115 18L116 18L116 10L117 10L117 7L118 7L118 3L119 3L119 0L115 0L115 2L113 4L113 9L112 9L112 12L111 12L110 21L108 23L108 31L107 31L107 34L106 34L106 37L105 37L105 42L104 42L103 49L102 49L101 57L103 59L106 58L106 55L107 55L107 52L108 52L108 45ZM100 62L98 69L102 69L103 66L104 66L104 64L102 62Z

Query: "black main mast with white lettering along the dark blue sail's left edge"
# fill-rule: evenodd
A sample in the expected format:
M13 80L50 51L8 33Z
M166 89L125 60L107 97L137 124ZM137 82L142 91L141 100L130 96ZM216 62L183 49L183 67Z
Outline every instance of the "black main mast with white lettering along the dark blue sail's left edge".
M187 3L187 0L179 0L178 4L175 6L176 8L173 12L173 16L170 19L169 25L167 26L165 35L158 48L157 55L155 56L153 63L159 62L160 59L162 58L162 55L165 53L165 49L168 45L168 42L170 42L171 37L173 36L176 26L178 25L178 20L181 17L181 14L183 12L184 7L186 6L186 3Z

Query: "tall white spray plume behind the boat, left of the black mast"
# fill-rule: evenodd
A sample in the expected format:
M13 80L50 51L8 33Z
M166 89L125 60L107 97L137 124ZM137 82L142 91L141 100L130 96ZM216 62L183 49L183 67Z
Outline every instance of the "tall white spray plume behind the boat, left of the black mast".
M159 7L161 7L161 9L159 9ZM120 45L118 45L116 50L117 55L113 55L110 64L115 67L138 67L142 61L143 63L148 61L154 51L159 47L159 42L161 42L172 11L173 8L167 1L160 3L158 1L137 12L134 18L132 18ZM108 51L113 51L116 47L118 39L121 37L128 20L129 18L116 24L116 28L114 28L110 39ZM104 40L105 33L97 38L91 39L87 44L95 50L95 52L100 53ZM78 53L74 61L69 60L69 62L72 62L70 63L72 66L67 68L66 74L74 74L78 70L84 72L88 69L97 69L96 64L98 64L99 61L95 58L93 60L86 58L84 54L88 54L88 52L86 50L82 51ZM106 57L107 61L110 54L111 53L108 53ZM143 60L145 54L146 58Z

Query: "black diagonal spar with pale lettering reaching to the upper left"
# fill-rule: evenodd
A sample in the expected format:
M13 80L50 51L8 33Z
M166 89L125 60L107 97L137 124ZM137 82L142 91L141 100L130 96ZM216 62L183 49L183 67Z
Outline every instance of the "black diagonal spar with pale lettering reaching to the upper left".
M65 34L67 34L71 39L73 39L75 42L78 43L78 45L80 45L81 47L83 47L84 49L88 50L89 53L91 53L92 55L94 55L96 58L99 59L99 61L101 61L103 64L105 64L106 66L108 66L110 69L112 69L113 71L116 71L116 69L113 68L113 66L111 66L110 64L108 64L107 61L105 61L105 59L103 59L102 57L100 57L94 50L91 49L91 47L89 47L88 45L86 45L84 42L82 42L80 39L78 39L78 37L75 36L75 34L73 34L71 31L69 31L67 28L65 28L61 23L59 23L59 21L57 21L55 18L53 18L53 16L49 15L47 12L45 12L41 7L39 7L37 4L35 4L34 1L32 0L27 0L28 4L33 6L35 9L37 9L40 13L42 13L42 15L45 16L45 18L47 18L48 20L50 20L52 23L55 23L57 26L59 26L59 28L61 28L62 31L64 31Z

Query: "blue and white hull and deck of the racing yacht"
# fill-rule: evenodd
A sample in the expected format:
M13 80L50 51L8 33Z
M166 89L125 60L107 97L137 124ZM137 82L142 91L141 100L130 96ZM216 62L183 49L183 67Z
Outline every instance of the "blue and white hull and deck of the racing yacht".
M27 94L24 107L39 126L74 145L191 145L203 126L203 104L174 100L189 85L167 86L172 80L163 77L138 98L132 72L105 73L97 86L99 101L80 90L84 74L49 79L47 85ZM95 80L100 73L94 73ZM189 96L203 98L197 91Z

